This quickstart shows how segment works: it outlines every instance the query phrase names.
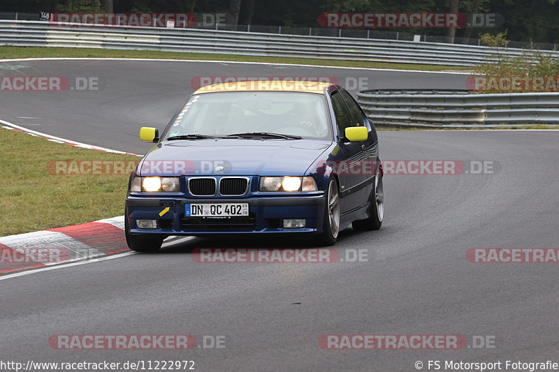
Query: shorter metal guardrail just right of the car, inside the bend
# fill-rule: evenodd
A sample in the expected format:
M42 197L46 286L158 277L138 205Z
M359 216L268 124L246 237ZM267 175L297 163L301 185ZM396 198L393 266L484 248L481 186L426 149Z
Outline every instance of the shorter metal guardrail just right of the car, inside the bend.
M559 93L471 94L469 91L360 91L376 126L468 128L559 124Z

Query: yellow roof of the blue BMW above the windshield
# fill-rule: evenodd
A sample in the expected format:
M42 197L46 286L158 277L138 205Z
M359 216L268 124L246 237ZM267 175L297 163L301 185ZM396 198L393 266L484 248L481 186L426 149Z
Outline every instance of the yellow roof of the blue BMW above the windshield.
M324 89L334 86L331 82L310 82L310 81L244 81L226 82L222 84L211 84L201 87L194 94L215 93L218 91L293 91L305 93L324 94Z

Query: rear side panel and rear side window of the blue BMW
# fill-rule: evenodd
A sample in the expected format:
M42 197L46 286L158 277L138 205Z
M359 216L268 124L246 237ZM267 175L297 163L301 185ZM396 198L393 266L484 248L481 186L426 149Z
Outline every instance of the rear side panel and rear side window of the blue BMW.
M367 190L370 190L372 185L375 184L374 177L377 169L376 161L379 151L377 131L375 131L375 127L370 124L367 115L361 110L361 107L359 107L354 98L344 90L340 90L340 94L342 98L344 98L344 102L351 114L351 122L354 123L354 126L365 126L368 131L367 140L360 143L361 149L365 152L365 161L367 161L367 165L363 167L363 180L365 181ZM366 194L368 195L368 193ZM366 202L366 199L364 201Z

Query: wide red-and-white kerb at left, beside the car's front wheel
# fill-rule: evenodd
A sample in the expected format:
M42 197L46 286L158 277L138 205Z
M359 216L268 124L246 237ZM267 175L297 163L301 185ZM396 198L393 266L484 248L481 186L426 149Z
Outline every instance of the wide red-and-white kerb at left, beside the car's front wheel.
M129 251L124 216L0 237L0 274L92 260Z

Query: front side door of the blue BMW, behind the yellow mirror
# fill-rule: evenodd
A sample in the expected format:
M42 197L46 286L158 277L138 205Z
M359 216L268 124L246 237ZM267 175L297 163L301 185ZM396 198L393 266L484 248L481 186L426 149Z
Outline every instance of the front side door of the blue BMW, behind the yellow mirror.
M354 124L340 91L331 94L331 101L338 131L337 144L342 154L342 163L338 163L337 172L340 177L341 208L344 213L361 207L363 199L366 200L366 197L361 195L363 193L361 184L365 181L365 177L360 171L365 160L365 151L361 148L362 142L344 141L345 128Z

